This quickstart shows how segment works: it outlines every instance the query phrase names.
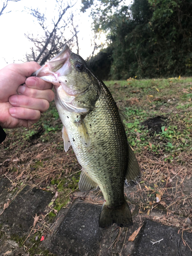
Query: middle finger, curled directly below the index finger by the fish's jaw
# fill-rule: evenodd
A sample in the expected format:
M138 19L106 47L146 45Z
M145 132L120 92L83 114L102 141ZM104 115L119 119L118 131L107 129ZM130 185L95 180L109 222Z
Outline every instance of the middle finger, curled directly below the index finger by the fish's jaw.
M33 88L27 87L25 84L23 86L19 86L17 89L17 93L20 95L25 95L31 98L36 99L46 99L49 102L54 100L54 92L50 89L47 90L37 90Z

